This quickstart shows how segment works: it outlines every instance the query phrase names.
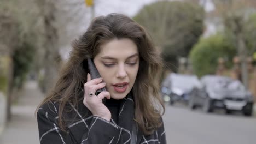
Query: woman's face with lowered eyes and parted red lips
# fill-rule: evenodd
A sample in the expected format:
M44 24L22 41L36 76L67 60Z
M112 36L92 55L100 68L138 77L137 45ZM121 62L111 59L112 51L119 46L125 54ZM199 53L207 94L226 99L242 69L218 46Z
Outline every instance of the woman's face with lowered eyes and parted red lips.
M130 39L113 39L100 46L94 63L113 99L123 99L131 91L139 68L139 53Z

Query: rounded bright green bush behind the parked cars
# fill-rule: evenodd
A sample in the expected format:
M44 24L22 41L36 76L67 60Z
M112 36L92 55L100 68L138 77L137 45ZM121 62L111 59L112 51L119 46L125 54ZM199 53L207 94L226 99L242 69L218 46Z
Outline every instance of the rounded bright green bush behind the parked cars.
M194 73L201 77L216 72L219 57L223 57L226 67L230 68L235 54L234 44L222 34L216 34L208 38L201 38L190 51L189 58Z

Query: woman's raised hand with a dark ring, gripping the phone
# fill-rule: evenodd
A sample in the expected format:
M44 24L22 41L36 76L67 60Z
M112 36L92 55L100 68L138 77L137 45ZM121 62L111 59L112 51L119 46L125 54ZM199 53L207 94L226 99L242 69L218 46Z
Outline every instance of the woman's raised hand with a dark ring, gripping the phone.
M106 83L101 83L102 78L97 78L91 80L90 74L87 74L87 82L84 84L84 105L91 111L92 115L98 116L101 118L110 121L111 113L108 108L102 103L102 99L105 97L110 99L110 94L107 91L103 91L97 96L95 92L97 89L103 88L106 86ZM91 96L90 93L93 93Z

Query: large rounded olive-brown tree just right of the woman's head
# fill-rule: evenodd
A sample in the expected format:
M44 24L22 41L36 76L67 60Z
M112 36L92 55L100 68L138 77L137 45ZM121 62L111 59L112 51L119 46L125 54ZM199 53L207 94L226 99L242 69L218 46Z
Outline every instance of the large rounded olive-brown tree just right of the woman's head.
M133 19L148 29L166 66L176 71L178 57L187 57L202 34L204 15L199 4L159 1L145 5Z

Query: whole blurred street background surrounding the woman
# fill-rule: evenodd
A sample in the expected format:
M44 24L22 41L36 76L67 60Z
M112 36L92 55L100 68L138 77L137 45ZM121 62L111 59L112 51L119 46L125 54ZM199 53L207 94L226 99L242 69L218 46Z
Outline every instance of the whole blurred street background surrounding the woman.
M109 13L162 52L167 143L256 143L255 0L1 0L0 143L39 143L34 111L71 41Z

